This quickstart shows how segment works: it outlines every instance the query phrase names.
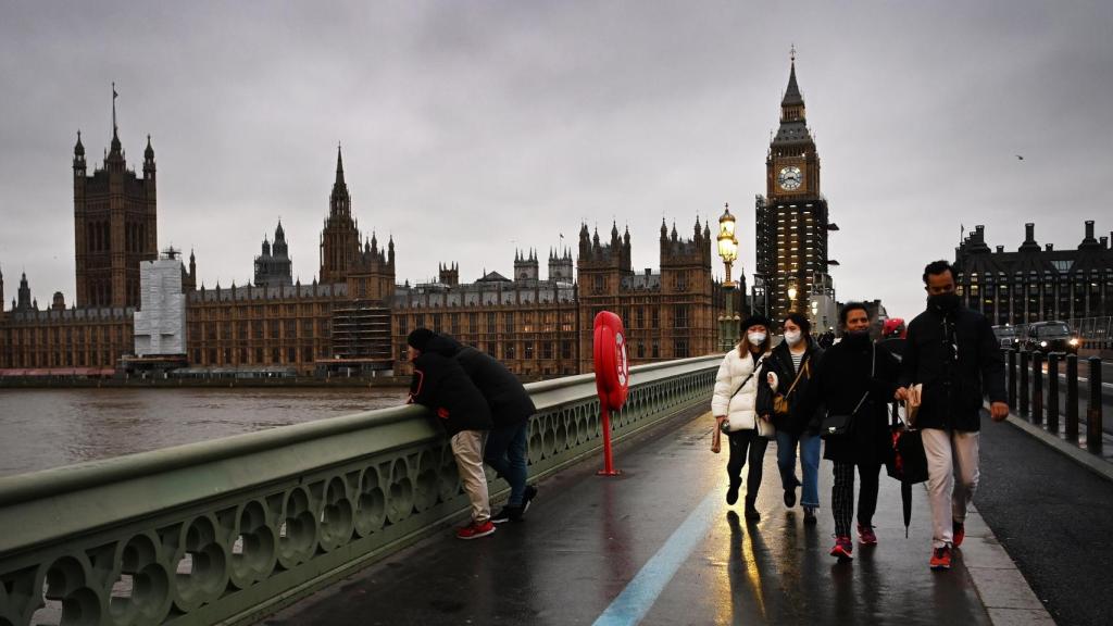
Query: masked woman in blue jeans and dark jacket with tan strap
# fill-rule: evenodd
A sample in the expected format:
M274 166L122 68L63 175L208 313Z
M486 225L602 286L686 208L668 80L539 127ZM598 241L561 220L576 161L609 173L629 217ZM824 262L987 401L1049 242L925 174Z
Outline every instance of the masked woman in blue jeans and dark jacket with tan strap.
M819 508L819 433L814 429L818 423L815 415L804 414L800 399L808 388L823 359L824 350L811 339L811 323L800 313L789 313L781 322L785 341L774 348L767 364L769 387L774 397L782 398L781 408L786 411L771 411L772 423L777 428L777 466L780 468L780 482L785 488L785 506L796 506L796 488L800 480L796 478L796 454L799 449L800 467L804 470L804 493L800 506L804 507L804 522L816 524L816 509Z

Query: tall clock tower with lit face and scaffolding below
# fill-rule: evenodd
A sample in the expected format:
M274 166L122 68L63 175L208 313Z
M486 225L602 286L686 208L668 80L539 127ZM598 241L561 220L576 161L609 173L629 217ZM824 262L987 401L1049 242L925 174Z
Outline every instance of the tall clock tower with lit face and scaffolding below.
M756 203L757 278L774 319L810 314L809 297L833 297L827 267L827 200L819 188L819 155L796 84L796 51L780 101L780 127L766 155L766 195ZM755 303L761 307L762 303ZM821 329L816 329L817 331Z

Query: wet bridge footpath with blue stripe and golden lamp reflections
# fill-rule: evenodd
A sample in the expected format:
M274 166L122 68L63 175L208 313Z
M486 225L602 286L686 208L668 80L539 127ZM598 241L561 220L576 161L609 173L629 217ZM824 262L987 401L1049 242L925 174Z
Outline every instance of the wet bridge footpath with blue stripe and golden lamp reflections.
M708 451L710 436L707 414L673 421L617 449L621 477L582 463L542 481L523 521L472 541L441 531L262 624L991 623L961 550L951 571L928 569L923 486L906 539L899 485L883 476L879 545L838 564L830 462L819 524L806 527L781 501L770 443L762 518L747 522L741 498L723 500L726 452Z

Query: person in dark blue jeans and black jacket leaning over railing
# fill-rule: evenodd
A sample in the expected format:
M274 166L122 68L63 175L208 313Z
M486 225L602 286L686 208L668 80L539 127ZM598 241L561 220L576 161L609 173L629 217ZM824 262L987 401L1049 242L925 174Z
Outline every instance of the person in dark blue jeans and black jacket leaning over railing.
M533 399L518 376L485 352L442 334L434 334L425 350L455 359L491 407L494 429L487 437L483 460L510 483L510 499L491 521L520 520L538 495L538 489L525 482L530 415L536 412Z

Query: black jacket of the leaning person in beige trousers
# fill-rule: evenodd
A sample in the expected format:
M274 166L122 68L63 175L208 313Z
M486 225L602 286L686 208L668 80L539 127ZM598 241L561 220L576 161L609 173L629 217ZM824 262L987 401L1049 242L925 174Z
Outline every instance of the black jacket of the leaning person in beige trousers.
M449 437L462 430L491 430L491 409L483 394L460 363L443 354L426 351L414 359L410 401L433 411Z

